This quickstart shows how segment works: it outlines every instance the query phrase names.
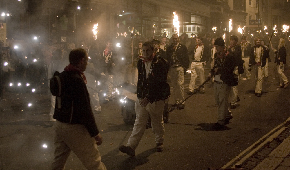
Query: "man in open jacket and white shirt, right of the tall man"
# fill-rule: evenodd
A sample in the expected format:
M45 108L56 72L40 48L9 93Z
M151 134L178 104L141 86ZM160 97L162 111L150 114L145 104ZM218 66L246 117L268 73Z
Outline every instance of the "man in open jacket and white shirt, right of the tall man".
M202 43L203 38L201 36L198 36L196 38L196 47L193 50L193 62L191 63L190 66L190 71L191 71L191 78L189 82L189 92L187 94L191 95L196 93L194 91L195 88L198 88L198 86L195 86L196 84L196 78L199 76L200 78L200 84L202 84L205 81L204 78L204 68L203 66L206 65L206 62L209 60L210 53L209 53L209 48ZM204 88L200 89L200 94L204 94Z

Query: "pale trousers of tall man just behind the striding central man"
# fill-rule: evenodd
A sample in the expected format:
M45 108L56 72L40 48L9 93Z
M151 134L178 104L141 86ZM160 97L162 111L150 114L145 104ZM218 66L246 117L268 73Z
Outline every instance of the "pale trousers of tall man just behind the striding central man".
M168 75L173 86L174 101L175 103L181 103L184 100L184 69L181 66L176 68L171 66Z

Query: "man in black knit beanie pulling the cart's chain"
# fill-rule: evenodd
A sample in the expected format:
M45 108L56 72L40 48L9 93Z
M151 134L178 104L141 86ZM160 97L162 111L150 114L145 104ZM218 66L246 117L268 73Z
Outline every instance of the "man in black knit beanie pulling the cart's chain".
M221 129L233 118L228 108L228 98L231 91L229 80L235 68L235 58L227 51L224 40L220 37L215 40L215 66L211 69L209 76L214 76L215 102L218 104L218 122L213 129Z

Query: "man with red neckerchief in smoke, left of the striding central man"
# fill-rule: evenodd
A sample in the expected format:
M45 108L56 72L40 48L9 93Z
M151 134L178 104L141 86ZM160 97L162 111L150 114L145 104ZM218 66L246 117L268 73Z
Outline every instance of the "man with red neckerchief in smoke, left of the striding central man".
M106 43L106 48L103 51L103 54L101 56L101 60L99 63L100 66L100 71L101 71L101 75L106 75L106 80L105 80L105 84L106 84L106 90L107 90L107 94L106 94L106 98L104 103L108 103L110 101L110 99L114 98L113 93L113 79L114 79L114 73L115 73L115 68L118 62L117 59L117 54L115 53L115 51L113 51L113 44L111 41L107 41Z

